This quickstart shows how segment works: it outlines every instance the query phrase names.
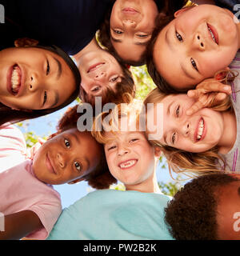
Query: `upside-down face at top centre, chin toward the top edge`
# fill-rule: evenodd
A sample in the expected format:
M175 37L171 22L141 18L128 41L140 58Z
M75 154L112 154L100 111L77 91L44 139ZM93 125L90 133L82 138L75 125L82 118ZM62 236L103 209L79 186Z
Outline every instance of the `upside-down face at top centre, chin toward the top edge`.
M110 40L118 55L138 62L154 30L154 0L117 0L110 16Z

